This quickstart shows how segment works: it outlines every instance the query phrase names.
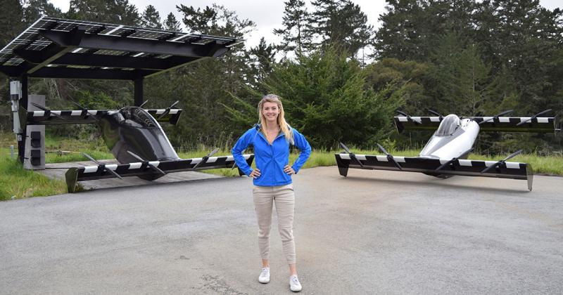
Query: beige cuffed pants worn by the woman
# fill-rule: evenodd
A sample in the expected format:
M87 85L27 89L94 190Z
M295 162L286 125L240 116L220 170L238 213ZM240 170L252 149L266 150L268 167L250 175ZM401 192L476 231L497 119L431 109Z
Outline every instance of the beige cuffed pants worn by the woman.
M276 204L281 246L287 263L296 263L293 243L293 210L295 194L293 184L280 186L254 186L254 208L258 217L258 247L262 259L270 259L270 230L272 229L272 204Z

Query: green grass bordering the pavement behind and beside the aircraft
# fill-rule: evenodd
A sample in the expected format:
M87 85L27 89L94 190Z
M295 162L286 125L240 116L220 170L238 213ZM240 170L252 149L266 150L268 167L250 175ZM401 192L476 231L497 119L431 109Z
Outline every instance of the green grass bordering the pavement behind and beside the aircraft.
M15 146L17 155L15 136L11 133L0 133L0 200L57 195L66 192L64 181L54 180L34 171L27 171L22 168L22 165L16 159L11 159L10 145ZM113 155L111 155L100 138L77 140L48 136L46 138L46 150L48 151L46 154L47 163L87 161L87 158L78 151L86 152L88 155L91 155L91 157L94 157L94 159L113 159ZM213 150L213 148L202 146L201 150L179 152L178 155L184 159L203 157L207 155L210 150ZM352 151L358 155L382 155L379 150L359 150L352 148ZM419 150L396 150L390 152L396 156L414 157L418 155ZM230 155L230 153L227 147L222 147L222 150L215 155ZM297 157L298 154L296 152L291 153L289 163L295 162ZM469 159L489 161L503 159L504 157L506 157L506 155L494 157L476 154L469 155ZM534 173L563 176L563 156L543 157L535 154L524 154L510 159L510 161L529 163ZM254 163L255 162L253 162L252 165L253 167L255 166ZM334 151L314 150L303 168L333 165L336 165ZM210 169L202 170L201 172L213 173L220 176L239 176L238 169Z

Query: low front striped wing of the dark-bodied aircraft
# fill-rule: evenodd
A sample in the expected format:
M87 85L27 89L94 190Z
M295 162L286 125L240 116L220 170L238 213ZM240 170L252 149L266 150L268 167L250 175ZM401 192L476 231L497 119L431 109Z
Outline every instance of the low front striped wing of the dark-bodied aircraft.
M246 162L249 165L252 164L254 155L243 155L243 157L244 159L246 159ZM232 168L235 162L233 156L229 155L223 157L208 157L206 159L192 158L192 159L181 159L175 161L162 161L162 162L149 161L149 162L136 162L129 164L106 164L103 166L94 165L94 166L84 166L84 167L73 167L68 169L68 171L66 171L65 173L68 192L75 191L75 185L77 181L91 181L94 179L116 177L113 173L108 172L107 169L110 169L115 173L118 173L122 177L159 175L160 173L155 169L152 169L149 166L149 164L158 167L158 169L164 171L165 173L172 173L172 172L180 172L180 171L197 171L197 170L205 170L205 169ZM239 170L239 174L243 175L242 171Z

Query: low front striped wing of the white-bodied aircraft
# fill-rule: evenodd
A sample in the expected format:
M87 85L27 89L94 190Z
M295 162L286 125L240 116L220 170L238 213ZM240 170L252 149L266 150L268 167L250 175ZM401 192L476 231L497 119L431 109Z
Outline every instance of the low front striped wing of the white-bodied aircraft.
M347 176L348 168L401 171L393 162L390 162L385 155L355 155L355 159L352 159L348 153L335 154L335 156L341 176ZM451 159L398 156L393 156L393 159L400 164L403 169L402 171L421 172L433 176L460 175L522 179L527 180L528 189L532 189L533 172L530 164L527 163L504 162L495 169L481 173L483 169L497 162L470 159L456 159L451 161ZM360 161L363 167L360 166L357 161ZM447 164L448 162L450 163ZM443 166L440 170L436 170L443 164L447 165Z

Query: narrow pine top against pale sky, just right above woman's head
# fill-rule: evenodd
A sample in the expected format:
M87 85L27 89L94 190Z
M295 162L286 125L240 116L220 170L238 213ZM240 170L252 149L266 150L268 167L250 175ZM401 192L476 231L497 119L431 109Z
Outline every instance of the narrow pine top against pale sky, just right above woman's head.
M289 0L284 3L286 6L281 22L284 28L274 29L274 34L282 38L281 44L277 48L286 53L296 50L297 55L302 55L311 42L310 36L305 30L309 18L305 1Z

